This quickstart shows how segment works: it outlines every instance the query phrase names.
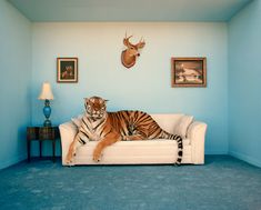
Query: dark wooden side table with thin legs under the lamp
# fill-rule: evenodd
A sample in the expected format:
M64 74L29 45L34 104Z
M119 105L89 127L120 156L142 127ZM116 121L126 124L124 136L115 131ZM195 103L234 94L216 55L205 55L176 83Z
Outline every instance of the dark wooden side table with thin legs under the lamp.
M28 162L31 160L31 141L39 141L39 153L42 158L42 141L52 141L52 160L56 161L56 140L60 139L58 127L27 127Z

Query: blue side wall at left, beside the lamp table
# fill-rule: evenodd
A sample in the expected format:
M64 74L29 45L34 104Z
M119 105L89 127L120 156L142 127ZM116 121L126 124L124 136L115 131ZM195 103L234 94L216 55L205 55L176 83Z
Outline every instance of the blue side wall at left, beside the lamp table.
M0 169L26 158L30 123L31 23L0 1Z

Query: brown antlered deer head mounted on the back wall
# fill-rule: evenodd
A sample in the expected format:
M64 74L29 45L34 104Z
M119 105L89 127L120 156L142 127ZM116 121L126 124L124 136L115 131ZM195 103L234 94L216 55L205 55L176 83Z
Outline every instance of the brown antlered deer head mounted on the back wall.
M144 40L142 40L142 38L139 41L139 43L132 44L129 41L131 37L132 36L127 38L126 34L126 38L123 39L123 43L127 47L127 49L121 52L121 62L126 68L131 68L135 64L135 59L137 57L140 56L139 49L142 49L145 46L145 42Z

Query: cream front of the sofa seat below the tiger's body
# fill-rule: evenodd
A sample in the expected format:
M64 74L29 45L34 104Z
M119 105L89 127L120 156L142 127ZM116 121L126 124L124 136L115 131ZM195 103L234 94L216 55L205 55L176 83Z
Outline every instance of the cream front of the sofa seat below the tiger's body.
M101 160L92 160L92 153L98 141L89 141L80 147L73 159L73 164L169 164L177 160L177 142L173 140L137 140L119 141L103 150ZM67 150L68 151L68 150ZM67 166L66 156L62 164ZM191 146L183 140L182 163L191 163Z

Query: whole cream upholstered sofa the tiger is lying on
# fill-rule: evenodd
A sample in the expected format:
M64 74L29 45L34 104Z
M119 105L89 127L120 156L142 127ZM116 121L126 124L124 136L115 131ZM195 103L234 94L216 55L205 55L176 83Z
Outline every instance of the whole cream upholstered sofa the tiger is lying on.
M182 163L204 163L204 139L207 124L193 121L193 117L181 113L151 114L162 129L183 137ZM66 156L70 143L78 132L80 118L59 126L62 144L62 164L67 166ZM78 122L77 122L78 121ZM79 126L79 124L78 124ZM177 142L173 140L119 141L104 149L101 161L92 160L92 152L98 141L89 141L77 150L73 164L160 164L174 163Z

